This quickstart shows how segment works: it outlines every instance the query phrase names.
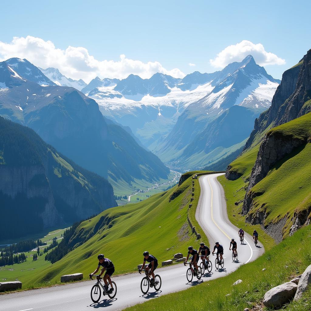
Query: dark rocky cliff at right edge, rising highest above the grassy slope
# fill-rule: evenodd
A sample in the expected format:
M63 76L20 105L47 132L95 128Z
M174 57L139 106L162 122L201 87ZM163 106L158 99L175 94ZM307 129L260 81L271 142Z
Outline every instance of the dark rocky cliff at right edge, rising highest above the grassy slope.
M271 107L255 120L245 148L268 127L275 127L311 111L311 50L294 67L283 73Z

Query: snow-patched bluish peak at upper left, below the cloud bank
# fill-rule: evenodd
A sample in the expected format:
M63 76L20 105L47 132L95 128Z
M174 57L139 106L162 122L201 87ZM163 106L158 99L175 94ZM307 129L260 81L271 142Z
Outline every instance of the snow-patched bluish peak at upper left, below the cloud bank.
M38 83L41 86L56 85L46 77L38 67L28 62L27 59L10 58L5 61L7 65L14 70L20 77L28 81Z

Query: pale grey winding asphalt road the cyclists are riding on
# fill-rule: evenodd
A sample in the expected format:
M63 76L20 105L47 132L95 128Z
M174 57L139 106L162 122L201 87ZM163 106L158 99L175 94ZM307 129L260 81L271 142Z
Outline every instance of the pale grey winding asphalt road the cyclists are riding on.
M160 295L189 288L190 286L200 284L202 281L226 276L242 263L254 260L263 252L263 248L256 248L253 244L252 237L247 234L245 235L244 245L240 245L238 228L234 227L227 217L223 190L220 183L216 180L216 177L219 175L221 174L205 175L199 178L202 191L196 218L202 229L206 232L211 247L213 247L216 240L224 246L224 269L216 271L215 257L210 256L213 263L212 273L205 274L200 281L194 281L192 283L188 283L186 279L186 270L188 267L184 267L183 264L158 268L156 272L162 278L162 287L156 293L154 290L150 290L147 295L142 295L140 282L143 276L134 273L113 277L118 287L116 297L109 299L108 296L102 296L98 304L94 304L90 297L91 287L95 281L84 281L40 290L28 290L20 293L0 295L0 310L90 311L98 308L119 310L130 305L143 303L149 299L155 299ZM231 237L236 238L238 241L238 263L232 262L231 251L229 251ZM197 248L197 245L194 246ZM186 252L187 250L183 250L183 253ZM194 277L193 280L195 279Z

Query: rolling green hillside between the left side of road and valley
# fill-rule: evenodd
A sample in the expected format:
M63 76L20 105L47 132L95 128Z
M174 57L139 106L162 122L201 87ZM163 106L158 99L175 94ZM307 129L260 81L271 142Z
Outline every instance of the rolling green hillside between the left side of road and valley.
M195 173L186 174L187 179L180 186L136 204L110 208L81 223L69 242L76 248L40 274L22 280L23 288L34 284L55 284L60 281L60 276L76 272L82 272L87 279L96 268L98 253L104 253L114 262L116 274L136 271L145 250L160 262L172 259L174 253L186 254L190 244L199 244L187 221L191 177ZM207 241L205 236L202 239ZM120 257L120 248L126 249L130 261Z

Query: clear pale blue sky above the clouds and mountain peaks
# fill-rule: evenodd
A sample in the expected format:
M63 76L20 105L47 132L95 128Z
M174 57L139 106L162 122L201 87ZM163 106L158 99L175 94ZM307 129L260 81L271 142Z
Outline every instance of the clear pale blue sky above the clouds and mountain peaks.
M99 62L118 62L124 54L126 59L144 64L160 63L161 67L138 69L138 74L139 70L147 70L145 76L148 76L155 68L162 67L167 70L163 72L172 74L170 71L174 68L184 74L219 70L220 67L212 66L210 59L215 59L229 45L248 40L262 44L267 53L285 60L281 65L264 65L273 77L281 78L284 70L297 63L311 48L309 18L303 13L310 9L309 1L225 0L194 4L189 1L10 1L2 2L0 41L10 44L13 37L32 36L49 40L55 49L63 51L68 46L83 47ZM1 51L0 44L1 59L15 52L14 47L9 52L7 46L4 49L5 52ZM25 49L30 49L29 45ZM21 48L16 53L18 57L23 56ZM29 53L25 54L26 58L31 58ZM38 53L30 61L38 59ZM56 61L38 62L34 64L43 67ZM131 69L111 63L115 68L109 72L108 62L98 65L101 69L93 72L90 68L83 69L79 62L80 68L74 68L72 58L70 66L64 62L58 66L62 72L73 78L85 75L86 80L93 73L118 75L118 70L127 74ZM94 66L97 65L91 65L93 69Z

